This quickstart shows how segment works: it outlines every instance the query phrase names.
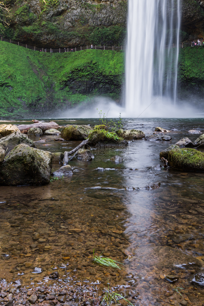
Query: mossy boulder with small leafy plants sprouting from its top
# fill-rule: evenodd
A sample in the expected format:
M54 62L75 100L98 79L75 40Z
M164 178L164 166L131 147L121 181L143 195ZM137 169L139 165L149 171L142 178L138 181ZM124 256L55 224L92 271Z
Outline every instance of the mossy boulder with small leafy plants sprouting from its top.
M128 145L127 140L124 140L122 137L119 137L115 132L108 132L104 129L97 130L94 129L89 134L89 144L122 144Z

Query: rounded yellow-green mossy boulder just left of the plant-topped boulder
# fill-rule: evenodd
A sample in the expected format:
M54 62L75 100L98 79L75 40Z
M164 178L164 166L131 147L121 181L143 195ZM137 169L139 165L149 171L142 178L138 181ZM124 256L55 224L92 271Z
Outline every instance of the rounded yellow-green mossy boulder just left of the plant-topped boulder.
M66 125L61 131L61 137L65 140L85 140L92 128L89 125Z

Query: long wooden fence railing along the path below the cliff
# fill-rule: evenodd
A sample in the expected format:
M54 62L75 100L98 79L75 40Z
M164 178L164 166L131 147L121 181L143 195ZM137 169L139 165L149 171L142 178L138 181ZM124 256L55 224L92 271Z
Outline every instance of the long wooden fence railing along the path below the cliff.
M13 43L15 45L21 46L21 47L25 47L27 49L32 49L35 51L42 51L42 52L49 52L49 53L64 53L64 52L76 52L76 51L81 51L81 50L88 50L88 49L95 49L95 50L112 50L112 51L123 51L126 50L126 47L121 46L121 47L107 47L107 46L83 46L83 47L71 47L71 48L38 48L38 47L31 47L28 46L27 44L23 44L23 43L19 43L17 41L11 40L11 39L6 39L3 38L3 36L1 36L0 41L6 41L8 43ZM200 46L204 46L204 42L200 43ZM179 44L171 44L171 45L165 45L165 49L169 49L169 48L184 48L184 47L199 47L198 43L179 43ZM155 46L154 49L157 49L157 47Z

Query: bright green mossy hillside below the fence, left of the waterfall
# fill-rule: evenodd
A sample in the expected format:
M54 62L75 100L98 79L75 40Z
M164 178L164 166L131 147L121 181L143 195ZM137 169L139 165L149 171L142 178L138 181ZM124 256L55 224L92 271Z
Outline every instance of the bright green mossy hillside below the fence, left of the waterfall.
M0 116L53 114L94 95L119 99L124 53L44 53L0 41Z

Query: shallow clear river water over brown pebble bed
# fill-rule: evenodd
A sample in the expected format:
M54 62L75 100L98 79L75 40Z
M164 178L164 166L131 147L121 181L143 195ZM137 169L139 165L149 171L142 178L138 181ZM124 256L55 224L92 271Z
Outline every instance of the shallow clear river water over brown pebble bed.
M161 126L172 130L172 141L92 147L95 159L70 162L72 176L45 186L0 186L0 305L99 305L107 290L135 306L204 305L204 174L164 169L159 159L181 138L199 136L188 130L204 133L204 119L124 119L123 125L146 135ZM31 139L50 152L80 143L46 138ZM123 161L111 161L114 155ZM93 253L120 262L121 270L96 265Z

